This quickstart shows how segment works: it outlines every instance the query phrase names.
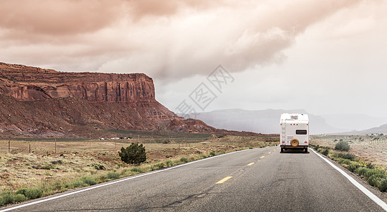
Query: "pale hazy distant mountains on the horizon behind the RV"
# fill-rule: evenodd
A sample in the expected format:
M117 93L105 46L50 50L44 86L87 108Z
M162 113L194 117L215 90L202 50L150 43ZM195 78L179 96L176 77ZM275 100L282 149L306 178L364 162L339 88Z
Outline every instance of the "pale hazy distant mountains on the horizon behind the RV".
M306 112L306 110L214 110L212 112L201 112L189 114L194 119L200 119L210 126L218 129L253 131L263 134L278 134L280 114L282 113L305 113L309 115L311 122L311 134L338 134L353 131L357 134L368 134L368 131L381 133L387 131L381 124L387 123L383 118L369 117L363 114L328 114L317 116ZM380 126L371 128L372 126ZM384 126L384 125L383 125ZM361 129L367 129L359 131ZM358 130L358 131L355 131Z

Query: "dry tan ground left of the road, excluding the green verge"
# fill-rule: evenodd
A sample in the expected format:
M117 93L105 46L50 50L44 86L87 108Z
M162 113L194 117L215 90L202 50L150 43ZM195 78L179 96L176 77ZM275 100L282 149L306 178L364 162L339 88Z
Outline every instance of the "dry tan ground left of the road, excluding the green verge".
M274 146L278 136L209 136L189 142L171 139L167 143L131 139L125 141L0 141L0 193L15 192L23 187L44 187L54 182L71 182L77 177L119 172L133 165L122 163L119 150L143 143L146 164L181 157L194 160L210 152L219 154L244 148ZM177 142L178 141L178 142ZM149 142L149 143L144 143ZM9 153L8 153L9 144ZM96 170L95 166L103 169Z

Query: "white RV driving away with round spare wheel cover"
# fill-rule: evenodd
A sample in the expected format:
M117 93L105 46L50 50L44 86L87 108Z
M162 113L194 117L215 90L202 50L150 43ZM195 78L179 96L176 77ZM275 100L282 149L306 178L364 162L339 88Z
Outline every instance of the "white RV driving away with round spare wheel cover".
M299 148L308 152L309 118L307 114L281 114L280 131L281 152L290 148Z

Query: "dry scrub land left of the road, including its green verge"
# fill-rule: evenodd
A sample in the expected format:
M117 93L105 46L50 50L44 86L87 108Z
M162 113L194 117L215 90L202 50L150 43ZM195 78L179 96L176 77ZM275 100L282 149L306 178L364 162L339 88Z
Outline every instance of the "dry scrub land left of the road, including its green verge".
M222 153L275 146L279 139L278 136L198 137L168 137L167 140L160 139L162 143L149 138L117 141L0 141L0 206ZM118 154L120 148L126 148L131 142L143 143L147 153L145 163L129 165L121 161Z

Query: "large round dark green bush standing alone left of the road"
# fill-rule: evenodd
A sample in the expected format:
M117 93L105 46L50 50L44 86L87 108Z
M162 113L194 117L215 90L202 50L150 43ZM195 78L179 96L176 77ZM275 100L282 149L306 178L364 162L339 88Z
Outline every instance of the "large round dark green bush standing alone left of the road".
M138 143L131 143L131 146L126 148L121 147L119 156L124 163L130 164L140 164L146 160L146 151L143 144L138 145Z

